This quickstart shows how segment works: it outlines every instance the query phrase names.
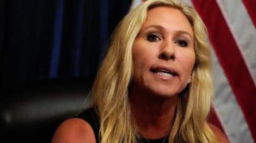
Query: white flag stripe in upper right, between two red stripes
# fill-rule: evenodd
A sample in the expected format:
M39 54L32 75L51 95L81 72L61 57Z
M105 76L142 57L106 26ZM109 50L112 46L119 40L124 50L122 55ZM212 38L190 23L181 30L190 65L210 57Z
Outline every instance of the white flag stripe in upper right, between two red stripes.
M217 4L228 23L256 86L256 30L247 9L240 0L217 0Z

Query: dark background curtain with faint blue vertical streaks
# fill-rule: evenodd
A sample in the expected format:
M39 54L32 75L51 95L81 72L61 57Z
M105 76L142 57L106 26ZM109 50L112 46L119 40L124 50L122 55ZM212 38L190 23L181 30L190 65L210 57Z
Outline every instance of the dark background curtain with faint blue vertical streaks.
M1 0L1 87L45 79L94 79L131 1Z

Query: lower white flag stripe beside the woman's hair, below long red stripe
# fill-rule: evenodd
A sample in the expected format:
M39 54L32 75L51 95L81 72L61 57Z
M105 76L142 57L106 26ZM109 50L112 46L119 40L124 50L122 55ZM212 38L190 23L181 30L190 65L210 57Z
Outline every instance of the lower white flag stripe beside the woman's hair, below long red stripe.
M229 140L233 143L253 143L247 122L229 86L228 79L224 75L215 53L212 52L212 55L215 89L213 105L217 117L222 123L222 128L225 130L226 135L228 135Z

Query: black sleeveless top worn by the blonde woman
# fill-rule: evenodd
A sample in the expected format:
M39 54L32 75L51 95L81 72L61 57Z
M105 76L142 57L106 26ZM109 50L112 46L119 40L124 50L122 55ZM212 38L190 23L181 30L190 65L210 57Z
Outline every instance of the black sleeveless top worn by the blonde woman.
M76 118L82 118L90 124L92 130L94 130L96 142L100 143L99 128L101 125L99 122L99 117L94 111L94 108L84 110ZM160 139L145 139L143 137L140 137L140 139L138 139L138 143L168 143L168 137L162 137Z

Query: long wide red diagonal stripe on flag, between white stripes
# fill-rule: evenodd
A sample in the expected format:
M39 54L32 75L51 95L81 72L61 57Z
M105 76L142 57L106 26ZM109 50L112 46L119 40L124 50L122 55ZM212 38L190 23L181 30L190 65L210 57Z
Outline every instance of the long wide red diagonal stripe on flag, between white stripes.
M192 0L209 30L209 38L221 63L238 104L245 115L248 127L256 140L256 115L253 105L256 103L256 88L250 72L245 65L238 46L229 31L216 1Z

